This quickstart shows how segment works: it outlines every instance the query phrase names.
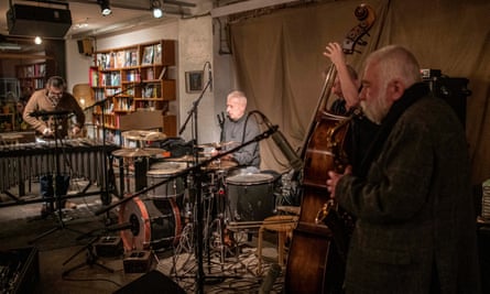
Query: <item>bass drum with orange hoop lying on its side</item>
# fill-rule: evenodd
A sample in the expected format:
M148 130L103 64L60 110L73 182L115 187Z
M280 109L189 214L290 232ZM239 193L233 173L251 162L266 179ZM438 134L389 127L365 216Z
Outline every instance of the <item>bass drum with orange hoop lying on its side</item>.
M119 224L131 224L121 230L126 251L163 249L176 246L182 232L181 210L177 199L133 199L123 203L119 210Z

